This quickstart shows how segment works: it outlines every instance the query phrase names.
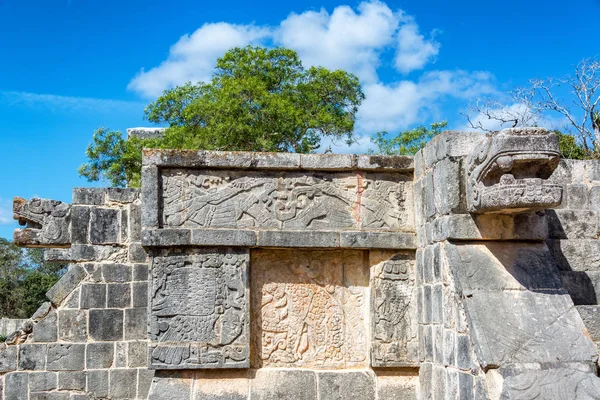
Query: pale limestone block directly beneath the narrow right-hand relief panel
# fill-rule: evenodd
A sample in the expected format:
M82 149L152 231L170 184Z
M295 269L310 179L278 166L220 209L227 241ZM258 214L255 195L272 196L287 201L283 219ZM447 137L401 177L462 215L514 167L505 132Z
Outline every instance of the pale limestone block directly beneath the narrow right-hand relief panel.
M415 400L419 376L417 370L385 371L377 374L378 400Z

